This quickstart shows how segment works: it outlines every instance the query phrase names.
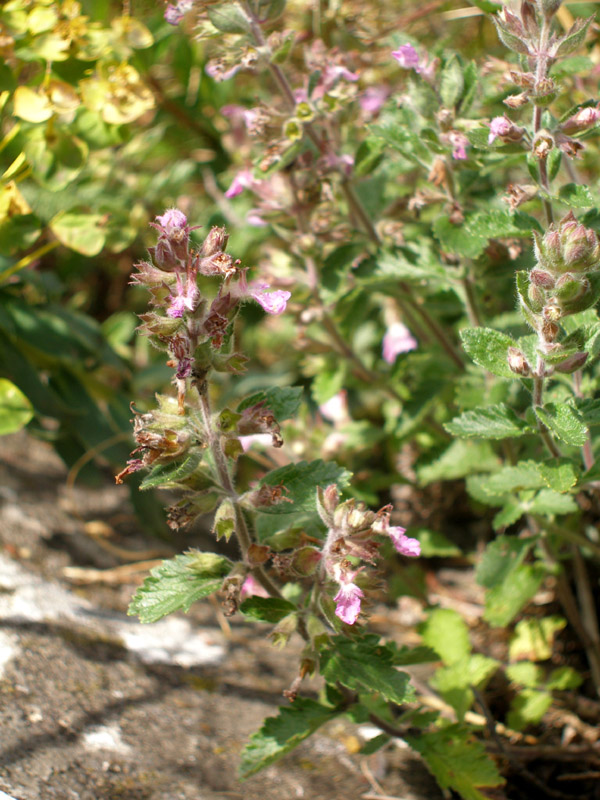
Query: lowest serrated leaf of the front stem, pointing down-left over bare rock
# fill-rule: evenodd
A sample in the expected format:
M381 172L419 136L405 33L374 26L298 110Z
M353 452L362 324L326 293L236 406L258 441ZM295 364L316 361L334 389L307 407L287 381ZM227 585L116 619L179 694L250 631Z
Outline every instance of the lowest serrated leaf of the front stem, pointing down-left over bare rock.
M268 767L339 713L307 697L297 697L291 706L280 708L278 716L267 717L250 737L242 752L240 778L244 780Z

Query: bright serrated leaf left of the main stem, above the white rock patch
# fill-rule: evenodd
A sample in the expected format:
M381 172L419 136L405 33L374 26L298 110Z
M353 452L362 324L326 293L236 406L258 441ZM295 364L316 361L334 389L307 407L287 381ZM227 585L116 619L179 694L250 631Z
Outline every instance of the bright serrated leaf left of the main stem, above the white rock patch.
M199 556L213 556L210 563ZM202 597L219 591L231 562L215 553L189 551L155 567L133 596L127 609L140 622L156 622L173 611L189 611Z

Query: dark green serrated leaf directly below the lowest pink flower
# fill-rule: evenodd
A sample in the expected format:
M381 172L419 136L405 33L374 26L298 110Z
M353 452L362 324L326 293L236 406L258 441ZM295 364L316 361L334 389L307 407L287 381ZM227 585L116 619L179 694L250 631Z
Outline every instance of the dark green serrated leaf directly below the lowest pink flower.
M336 637L321 654L321 674L329 683L339 682L353 691L378 692L386 700L402 705L414 696L410 675L393 664L392 647L378 636L350 641Z

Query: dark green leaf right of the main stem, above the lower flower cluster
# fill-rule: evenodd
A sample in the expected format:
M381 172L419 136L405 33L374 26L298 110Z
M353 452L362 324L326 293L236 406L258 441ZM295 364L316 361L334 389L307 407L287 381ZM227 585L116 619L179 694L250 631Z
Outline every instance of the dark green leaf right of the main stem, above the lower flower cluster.
M261 508L262 514L295 514L299 511L316 511L317 486L325 488L331 483L338 486L347 486L350 473L332 462L300 461L298 464L288 464L269 472L261 481L260 486L279 486L282 484L287 489L286 497L291 503L279 503L275 506Z

